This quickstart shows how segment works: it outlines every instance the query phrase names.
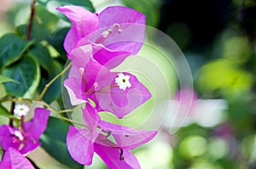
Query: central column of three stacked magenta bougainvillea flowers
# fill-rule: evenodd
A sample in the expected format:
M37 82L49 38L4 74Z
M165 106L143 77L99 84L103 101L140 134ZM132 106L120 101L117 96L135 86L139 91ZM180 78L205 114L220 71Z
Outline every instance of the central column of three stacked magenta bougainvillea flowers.
M96 152L109 168L140 168L130 150L147 143L157 132L102 121L98 113L107 111L123 118L151 98L136 76L111 71L142 47L145 16L125 7L109 7L100 14L78 6L57 9L73 24L64 42L72 61L64 86L71 104L85 103L86 127L71 126L67 132L70 155L80 164L90 165Z

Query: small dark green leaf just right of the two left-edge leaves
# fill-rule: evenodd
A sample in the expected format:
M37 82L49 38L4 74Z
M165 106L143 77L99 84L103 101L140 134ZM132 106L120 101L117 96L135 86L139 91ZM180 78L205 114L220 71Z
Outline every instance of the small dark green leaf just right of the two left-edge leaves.
M44 70L49 70L51 59L48 48L41 44L37 44L29 51L29 54L37 60L38 64L41 65Z

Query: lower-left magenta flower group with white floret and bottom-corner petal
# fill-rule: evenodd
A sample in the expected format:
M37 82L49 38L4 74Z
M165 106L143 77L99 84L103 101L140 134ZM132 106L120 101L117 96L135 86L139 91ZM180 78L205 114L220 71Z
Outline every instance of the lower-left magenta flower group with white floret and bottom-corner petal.
M1 169L34 168L25 156L41 145L39 138L47 127L49 110L37 108L32 121L24 121L28 110L25 104L16 105L15 115L20 115L20 127L5 124L0 127L0 145L5 151Z

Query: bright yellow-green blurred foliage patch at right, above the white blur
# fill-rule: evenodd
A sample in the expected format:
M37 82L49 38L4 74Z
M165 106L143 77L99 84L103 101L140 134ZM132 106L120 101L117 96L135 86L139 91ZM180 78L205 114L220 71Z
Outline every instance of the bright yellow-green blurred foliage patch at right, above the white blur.
M227 97L247 92L253 85L253 76L228 59L218 59L201 67L197 85L202 93L219 89Z

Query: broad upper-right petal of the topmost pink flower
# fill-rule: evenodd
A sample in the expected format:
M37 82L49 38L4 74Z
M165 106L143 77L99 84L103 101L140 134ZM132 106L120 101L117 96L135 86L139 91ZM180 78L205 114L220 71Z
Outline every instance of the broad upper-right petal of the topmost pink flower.
M102 42L109 49L137 54L145 38L145 15L126 7L108 7L99 14L100 28L119 24L121 32L113 33ZM107 26L107 27L106 27Z

